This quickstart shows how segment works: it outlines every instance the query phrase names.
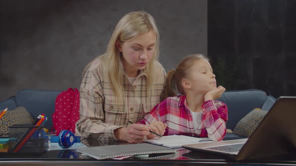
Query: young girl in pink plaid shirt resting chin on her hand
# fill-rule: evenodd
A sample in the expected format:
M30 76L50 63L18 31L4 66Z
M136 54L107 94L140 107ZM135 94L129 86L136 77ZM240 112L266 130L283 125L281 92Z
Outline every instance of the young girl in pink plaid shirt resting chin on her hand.
M176 96L177 90L182 95ZM168 98L138 123L150 124L153 131L163 135L222 140L226 133L227 106L214 99L224 91L224 87L216 86L208 58L201 54L191 55L181 61L176 70L168 73L165 85ZM154 136L150 134L147 138Z

